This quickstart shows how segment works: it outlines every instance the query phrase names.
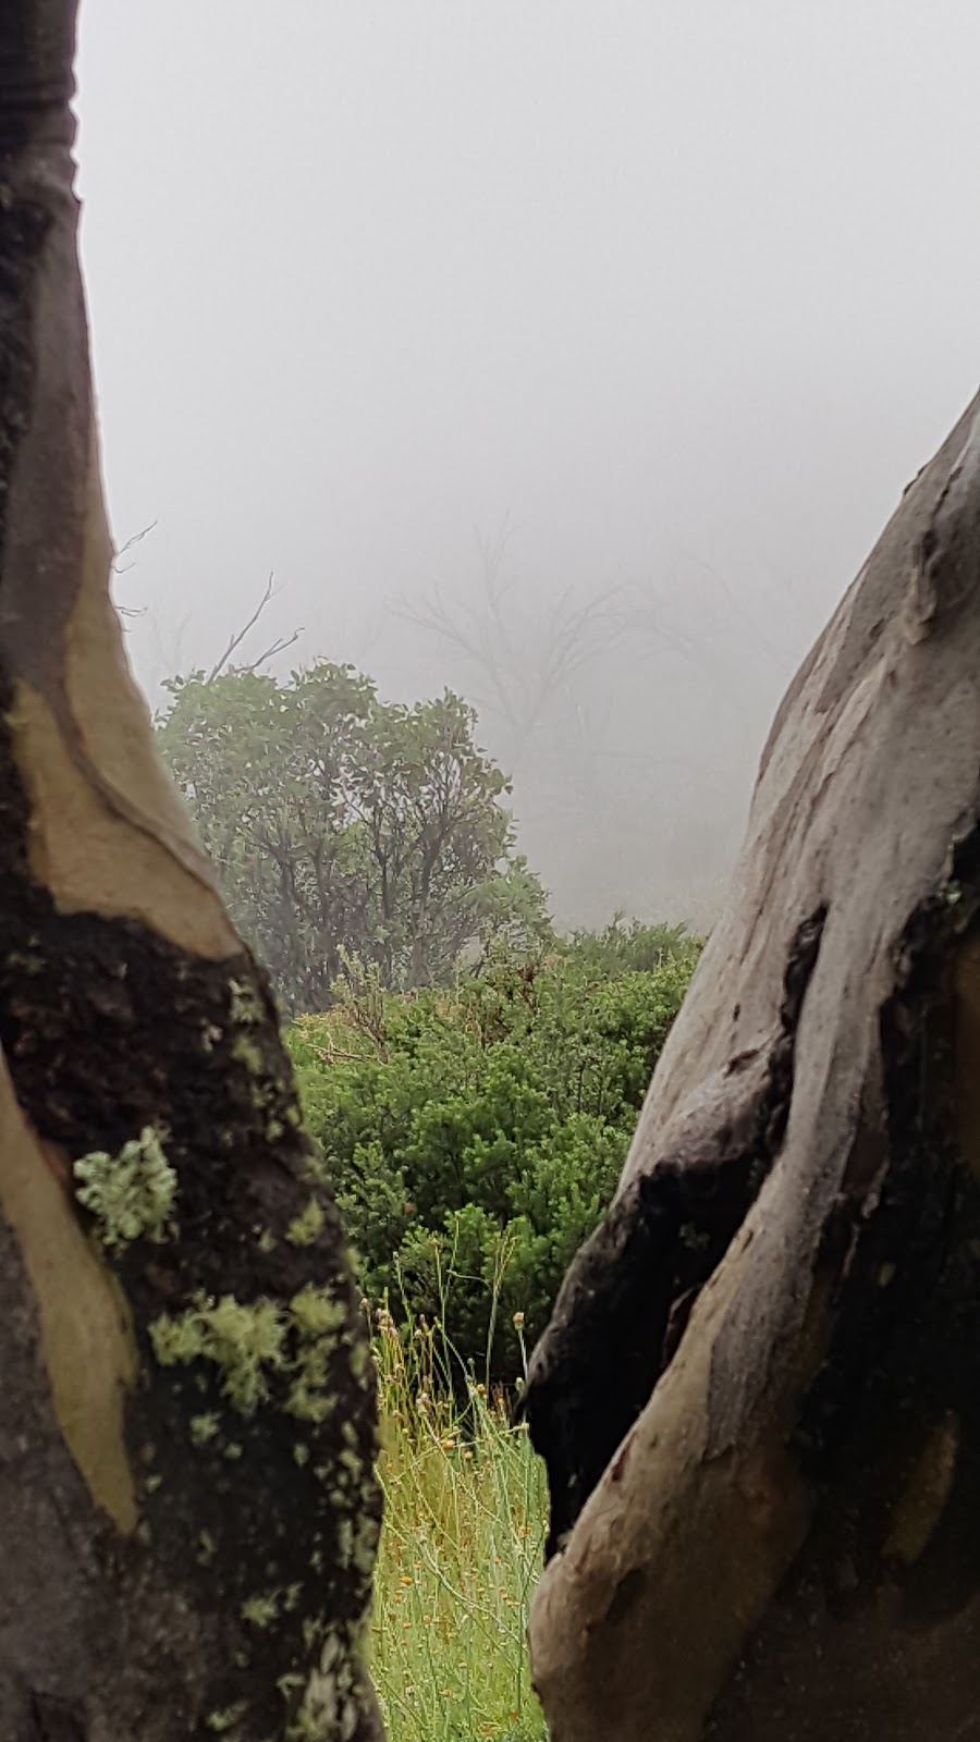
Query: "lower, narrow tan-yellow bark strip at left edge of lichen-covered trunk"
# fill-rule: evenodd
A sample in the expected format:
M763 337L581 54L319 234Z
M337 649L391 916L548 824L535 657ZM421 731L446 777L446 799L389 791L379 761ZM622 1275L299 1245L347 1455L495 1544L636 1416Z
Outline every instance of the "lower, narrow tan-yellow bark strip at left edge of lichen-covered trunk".
M58 1423L92 1500L129 1533L138 1510L124 1399L138 1361L126 1298L82 1232L56 1158L28 1127L3 1064L0 1211L17 1237L37 1300Z

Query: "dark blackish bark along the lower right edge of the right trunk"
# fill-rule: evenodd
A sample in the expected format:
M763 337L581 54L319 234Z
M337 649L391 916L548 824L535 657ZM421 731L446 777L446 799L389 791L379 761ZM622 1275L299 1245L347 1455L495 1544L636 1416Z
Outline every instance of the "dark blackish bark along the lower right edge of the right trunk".
M856 1737L858 1711L861 1735L973 1733L980 1183L957 1144L954 965L978 923L971 827L896 949L884 1174L858 1132L816 1259L835 1329L790 1441L816 1514L715 1704L718 1742Z

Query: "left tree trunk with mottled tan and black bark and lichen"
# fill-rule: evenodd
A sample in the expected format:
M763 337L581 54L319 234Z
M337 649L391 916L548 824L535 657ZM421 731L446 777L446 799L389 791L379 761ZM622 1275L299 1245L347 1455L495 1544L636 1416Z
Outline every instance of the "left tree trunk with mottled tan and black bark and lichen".
M0 7L0 1737L368 1742L366 1329L110 604L73 14Z

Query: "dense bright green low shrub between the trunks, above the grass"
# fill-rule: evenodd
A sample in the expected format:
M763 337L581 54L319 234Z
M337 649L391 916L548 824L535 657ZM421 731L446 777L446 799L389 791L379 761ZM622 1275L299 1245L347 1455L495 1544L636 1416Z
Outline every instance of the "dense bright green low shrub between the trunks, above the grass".
M603 937L537 962L497 944L452 995L361 988L288 1036L368 1296L439 1322L457 1380L514 1371L518 1329L542 1329L699 948L677 930Z

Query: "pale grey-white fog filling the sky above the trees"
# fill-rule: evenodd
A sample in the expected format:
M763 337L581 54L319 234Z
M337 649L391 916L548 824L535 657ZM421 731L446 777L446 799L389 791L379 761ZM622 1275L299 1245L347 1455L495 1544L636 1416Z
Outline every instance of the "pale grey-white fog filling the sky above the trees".
M459 688L563 923L708 923L795 662L980 368L975 0L84 0L153 704Z

